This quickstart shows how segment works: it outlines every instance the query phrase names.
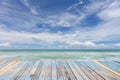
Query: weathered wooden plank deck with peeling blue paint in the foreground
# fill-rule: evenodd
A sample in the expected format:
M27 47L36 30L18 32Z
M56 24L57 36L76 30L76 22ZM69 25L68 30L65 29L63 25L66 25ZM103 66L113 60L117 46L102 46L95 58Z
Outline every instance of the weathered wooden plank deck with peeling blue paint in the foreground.
M120 61L5 59L0 80L120 80Z

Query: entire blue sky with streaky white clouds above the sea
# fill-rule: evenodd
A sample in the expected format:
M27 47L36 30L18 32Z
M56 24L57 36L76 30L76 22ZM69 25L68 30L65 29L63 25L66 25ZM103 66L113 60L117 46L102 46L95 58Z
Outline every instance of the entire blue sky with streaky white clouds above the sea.
M0 49L120 49L120 0L0 0Z

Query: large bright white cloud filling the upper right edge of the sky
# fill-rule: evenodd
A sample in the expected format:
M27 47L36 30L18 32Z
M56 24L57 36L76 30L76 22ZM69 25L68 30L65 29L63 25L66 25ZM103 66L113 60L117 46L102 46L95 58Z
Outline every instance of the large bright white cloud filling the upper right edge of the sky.
M120 40L120 3L113 1L98 13L98 16L104 20L93 30L98 40Z

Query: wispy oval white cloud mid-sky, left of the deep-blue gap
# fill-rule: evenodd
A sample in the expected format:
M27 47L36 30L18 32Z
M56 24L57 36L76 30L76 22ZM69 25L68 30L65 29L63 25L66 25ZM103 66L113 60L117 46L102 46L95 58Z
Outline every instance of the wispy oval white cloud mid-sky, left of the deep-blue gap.
M79 24L83 17L84 15L77 16L66 12L60 15L49 16L44 22L51 26L73 27Z

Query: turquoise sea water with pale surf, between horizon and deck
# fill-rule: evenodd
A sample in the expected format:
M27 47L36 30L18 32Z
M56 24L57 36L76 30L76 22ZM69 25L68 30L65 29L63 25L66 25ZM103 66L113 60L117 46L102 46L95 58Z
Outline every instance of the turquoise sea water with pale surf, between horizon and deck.
M120 60L120 50L0 50L0 58Z

